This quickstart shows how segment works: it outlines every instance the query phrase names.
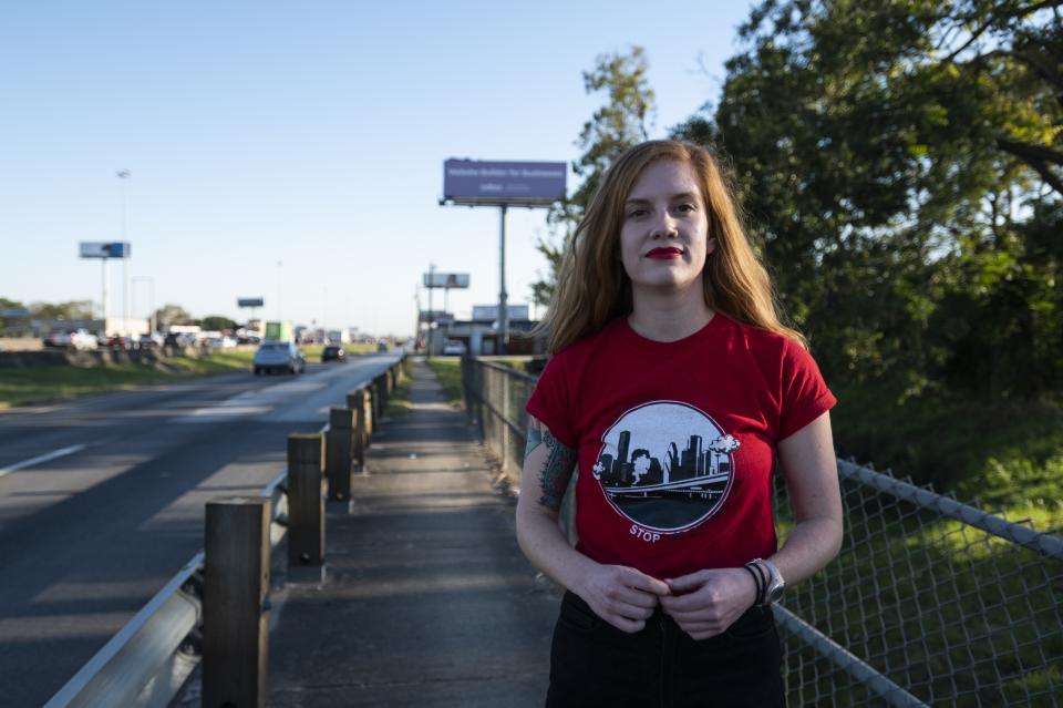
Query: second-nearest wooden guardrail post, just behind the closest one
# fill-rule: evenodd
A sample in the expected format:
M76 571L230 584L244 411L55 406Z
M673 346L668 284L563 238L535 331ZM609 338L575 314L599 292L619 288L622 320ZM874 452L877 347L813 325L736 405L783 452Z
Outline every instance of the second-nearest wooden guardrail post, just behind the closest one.
M288 567L324 563L323 438L288 435Z

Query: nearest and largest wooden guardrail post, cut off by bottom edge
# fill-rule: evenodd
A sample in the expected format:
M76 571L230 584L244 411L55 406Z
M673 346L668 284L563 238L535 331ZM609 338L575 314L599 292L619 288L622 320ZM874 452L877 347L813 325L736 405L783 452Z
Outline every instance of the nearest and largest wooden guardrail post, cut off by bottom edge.
M207 502L203 586L204 708L266 705L270 501Z

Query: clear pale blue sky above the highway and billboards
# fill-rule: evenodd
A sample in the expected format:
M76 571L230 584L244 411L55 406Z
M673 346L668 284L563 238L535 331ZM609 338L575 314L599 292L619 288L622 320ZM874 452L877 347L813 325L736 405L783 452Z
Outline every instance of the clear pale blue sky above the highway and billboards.
M581 72L631 44L647 50L663 136L719 95L749 8L3 3L0 296L99 301L100 265L78 243L120 239L125 186L128 271L153 279L156 305L239 319L236 298L260 295L274 318L279 285L285 319L411 334L435 263L471 274L450 297L467 316L497 301L498 214L438 206L443 161L570 163L602 100ZM510 302L546 269L544 216L510 212ZM146 316L147 283L132 296Z

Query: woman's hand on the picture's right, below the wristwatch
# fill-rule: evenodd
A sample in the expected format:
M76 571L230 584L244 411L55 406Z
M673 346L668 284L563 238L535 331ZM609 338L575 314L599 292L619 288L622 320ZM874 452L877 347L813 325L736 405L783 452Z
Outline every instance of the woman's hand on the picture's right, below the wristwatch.
M672 594L660 598L661 608L694 639L725 630L756 602L756 584L745 568L698 571L664 582Z

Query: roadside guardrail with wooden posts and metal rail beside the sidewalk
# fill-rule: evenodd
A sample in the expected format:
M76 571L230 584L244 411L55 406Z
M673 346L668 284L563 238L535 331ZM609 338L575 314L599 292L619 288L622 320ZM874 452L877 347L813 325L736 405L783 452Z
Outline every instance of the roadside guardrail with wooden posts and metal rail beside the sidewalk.
M350 391L347 408L332 409L329 423L317 433L289 435L288 468L257 497L208 502L205 550L71 677L45 708L163 708L199 665L203 706L262 705L268 635L267 623L259 617L269 609L270 555L287 541L289 579L310 577L307 571L312 574L320 568L324 561L324 499L350 499L350 475L365 462L372 431L399 384L404 361L403 356L372 381ZM314 514L316 507L321 513ZM258 513L249 515L245 513L248 509ZM248 516L256 515L261 523L248 524ZM234 530L237 533L230 533ZM247 552L256 545L264 551L257 566L255 554ZM248 596L252 599L247 601ZM238 614L229 612L235 597L242 598L236 603L240 609L255 610L250 622L233 617Z

